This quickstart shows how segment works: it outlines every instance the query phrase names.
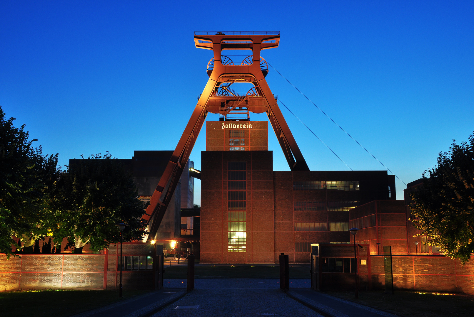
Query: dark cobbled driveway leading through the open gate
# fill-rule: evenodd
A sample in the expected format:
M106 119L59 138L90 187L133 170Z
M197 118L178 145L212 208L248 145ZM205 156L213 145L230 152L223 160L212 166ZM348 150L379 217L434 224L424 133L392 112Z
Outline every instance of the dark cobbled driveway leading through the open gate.
M186 280L165 279L164 286L75 317L397 317L313 291L309 279L290 279L287 293L278 279L198 279L189 293Z

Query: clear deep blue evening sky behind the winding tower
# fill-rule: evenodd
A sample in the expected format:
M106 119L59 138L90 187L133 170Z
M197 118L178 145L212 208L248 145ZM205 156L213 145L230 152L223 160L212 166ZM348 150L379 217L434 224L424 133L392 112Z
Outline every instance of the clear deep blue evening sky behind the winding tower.
M212 57L193 32L280 31L262 56L408 183L474 131L473 11L472 1L2 0L0 105L61 165L174 150ZM349 167L385 169L275 71L266 79ZM347 169L281 108L311 170ZM197 168L201 150L204 129ZM273 131L269 150L274 170L288 170Z

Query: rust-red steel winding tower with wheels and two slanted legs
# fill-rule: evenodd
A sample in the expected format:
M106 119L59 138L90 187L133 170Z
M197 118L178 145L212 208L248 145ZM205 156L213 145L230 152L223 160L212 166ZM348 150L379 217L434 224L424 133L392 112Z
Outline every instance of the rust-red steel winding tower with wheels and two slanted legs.
M250 112L257 114L265 112L290 169L309 171L277 104L277 97L273 95L265 80L268 63L260 53L262 50L278 47L279 42L280 32L194 33L197 48L213 51L214 57L207 65L209 80L202 94L198 95L198 103L156 186L146 215L143 216L149 223L149 238L155 237L209 112L219 114L221 121L244 121L243 123L249 120ZM233 61L231 57L222 54L223 50L251 50L252 55L243 59L241 57L242 61ZM251 83L253 88L246 93L238 93L231 87L235 83Z

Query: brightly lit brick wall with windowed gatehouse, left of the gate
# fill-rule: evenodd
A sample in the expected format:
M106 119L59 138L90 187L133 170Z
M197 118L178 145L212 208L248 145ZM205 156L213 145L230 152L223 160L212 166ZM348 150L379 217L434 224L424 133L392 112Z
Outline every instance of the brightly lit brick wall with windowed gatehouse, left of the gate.
M123 244L123 256L155 256L150 244ZM0 254L0 291L17 289L118 289L120 277L118 256L120 245L113 245L105 254L24 254L20 257ZM124 271L124 289L153 289L152 271Z

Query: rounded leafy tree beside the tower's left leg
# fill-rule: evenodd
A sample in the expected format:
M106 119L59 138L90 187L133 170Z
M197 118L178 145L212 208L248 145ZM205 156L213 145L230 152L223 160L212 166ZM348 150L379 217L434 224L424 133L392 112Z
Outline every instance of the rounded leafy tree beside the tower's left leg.
M109 153L73 161L59 183L62 219L54 236L68 237L74 253L82 253L87 243L95 250L116 243L120 240L116 224L122 221L130 225L124 241L143 238L146 221L141 217L146 206L138 199L132 175Z

